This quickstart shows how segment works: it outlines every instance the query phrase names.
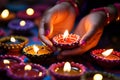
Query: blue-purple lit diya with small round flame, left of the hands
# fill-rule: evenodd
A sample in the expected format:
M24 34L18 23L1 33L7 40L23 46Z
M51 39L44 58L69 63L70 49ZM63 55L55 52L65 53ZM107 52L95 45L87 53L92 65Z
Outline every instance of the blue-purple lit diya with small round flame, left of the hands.
M15 19L8 23L8 27L13 33L25 35L30 33L30 30L34 27L34 23L30 20Z

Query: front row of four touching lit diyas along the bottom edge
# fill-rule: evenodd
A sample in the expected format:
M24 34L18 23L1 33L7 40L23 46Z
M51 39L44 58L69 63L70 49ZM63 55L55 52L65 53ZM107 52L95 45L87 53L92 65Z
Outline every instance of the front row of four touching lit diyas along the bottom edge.
M89 71L83 64L58 62L48 69L33 63L24 63L19 57L0 56L0 75L9 80L43 80L47 75L51 80L119 80L107 72Z

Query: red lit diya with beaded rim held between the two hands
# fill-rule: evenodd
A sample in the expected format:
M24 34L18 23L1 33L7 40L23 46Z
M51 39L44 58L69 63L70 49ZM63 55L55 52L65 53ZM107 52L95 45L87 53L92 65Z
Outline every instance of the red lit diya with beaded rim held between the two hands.
M64 34L58 34L53 37L52 41L54 46L61 49L72 49L79 46L79 35L69 34L68 30Z

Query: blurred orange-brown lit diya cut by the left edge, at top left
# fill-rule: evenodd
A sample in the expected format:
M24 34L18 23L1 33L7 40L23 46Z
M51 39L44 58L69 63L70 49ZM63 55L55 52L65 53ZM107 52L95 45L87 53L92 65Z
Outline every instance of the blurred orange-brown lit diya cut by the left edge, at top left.
M10 21L15 18L15 14L8 9L4 9L0 14L0 21Z

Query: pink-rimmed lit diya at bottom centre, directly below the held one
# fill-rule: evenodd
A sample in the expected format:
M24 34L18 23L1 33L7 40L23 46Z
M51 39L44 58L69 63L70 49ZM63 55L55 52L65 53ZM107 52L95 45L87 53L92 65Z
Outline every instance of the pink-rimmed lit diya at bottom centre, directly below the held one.
M62 62L52 64L48 70L52 80L80 80L86 68L79 63Z

